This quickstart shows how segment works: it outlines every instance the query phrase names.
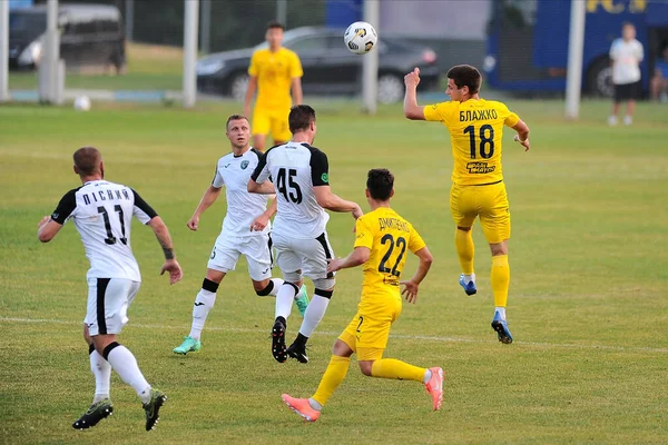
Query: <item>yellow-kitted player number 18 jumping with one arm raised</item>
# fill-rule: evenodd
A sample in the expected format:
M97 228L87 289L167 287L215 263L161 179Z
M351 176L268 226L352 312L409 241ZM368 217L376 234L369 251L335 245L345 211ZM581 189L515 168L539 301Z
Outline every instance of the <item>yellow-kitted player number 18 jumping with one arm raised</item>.
M510 210L501 169L501 139L503 126L508 126L518 132L515 140L527 151L529 127L504 103L481 99L478 95L481 80L480 71L474 67L453 67L448 71L445 90L452 100L421 107L416 97L420 69L415 68L404 77L404 115L412 120L441 122L450 131L454 157L450 210L456 224L454 245L462 267L460 285L466 295L478 291L471 227L475 217L480 217L482 231L492 250L491 285L495 306L492 328L499 335L499 342L510 344L512 335L505 320L510 284Z

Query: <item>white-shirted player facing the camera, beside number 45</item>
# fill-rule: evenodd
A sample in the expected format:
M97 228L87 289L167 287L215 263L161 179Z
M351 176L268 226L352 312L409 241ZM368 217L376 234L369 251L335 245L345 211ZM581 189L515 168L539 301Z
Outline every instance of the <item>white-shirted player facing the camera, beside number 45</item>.
M266 208L265 196L253 195L247 190L250 174L262 156L262 152L249 146L248 119L232 115L227 119L225 135L232 145L232 152L218 160L214 180L188 221L188 228L197 230L199 217L216 201L223 186L226 187L227 215L212 251L202 289L195 297L190 334L180 346L174 348L177 354L186 355L202 347L199 337L206 317L216 301L218 285L229 270L235 269L240 255L246 257L253 288L259 297L275 296L283 285L283 279L272 278L269 218L276 212L276 201L272 200ZM303 315L308 306L305 287L295 296L295 303Z

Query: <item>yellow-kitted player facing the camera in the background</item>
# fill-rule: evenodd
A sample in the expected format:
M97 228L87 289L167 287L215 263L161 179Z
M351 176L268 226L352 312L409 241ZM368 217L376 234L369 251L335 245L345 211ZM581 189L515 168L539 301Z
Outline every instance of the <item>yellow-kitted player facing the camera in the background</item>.
M250 102L257 90L252 128L253 147L261 151L265 149L269 132L275 146L292 138L287 125L292 107L291 91L294 103L302 103L302 62L295 52L281 46L283 30L283 24L277 21L269 22L265 36L269 47L255 51L248 67L250 79L244 100L244 115L250 116Z

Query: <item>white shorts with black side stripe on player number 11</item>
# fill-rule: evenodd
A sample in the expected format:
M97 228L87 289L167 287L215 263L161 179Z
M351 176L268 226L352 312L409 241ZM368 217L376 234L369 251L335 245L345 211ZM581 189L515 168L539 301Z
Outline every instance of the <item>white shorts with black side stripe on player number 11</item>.
M122 278L88 278L88 309L84 319L88 333L120 334L140 285Z

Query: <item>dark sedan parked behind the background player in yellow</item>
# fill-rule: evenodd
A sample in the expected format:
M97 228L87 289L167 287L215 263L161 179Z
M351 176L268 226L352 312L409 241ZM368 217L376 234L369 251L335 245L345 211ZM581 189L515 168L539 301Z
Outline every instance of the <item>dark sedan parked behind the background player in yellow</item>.
M295 28L286 31L283 46L302 60L305 95L352 95L361 90L362 60L343 43L343 29ZM248 65L255 48L209 55L197 61L197 89L202 92L232 96L243 100L248 85ZM382 36L379 51L379 101L400 101L404 95L403 77L420 68L420 85L432 89L439 85L436 55L428 47L409 43L396 37Z

